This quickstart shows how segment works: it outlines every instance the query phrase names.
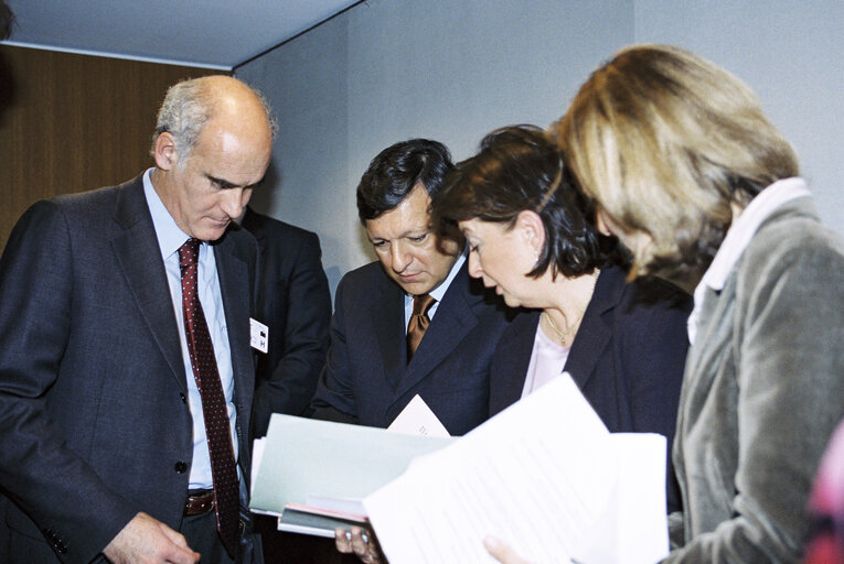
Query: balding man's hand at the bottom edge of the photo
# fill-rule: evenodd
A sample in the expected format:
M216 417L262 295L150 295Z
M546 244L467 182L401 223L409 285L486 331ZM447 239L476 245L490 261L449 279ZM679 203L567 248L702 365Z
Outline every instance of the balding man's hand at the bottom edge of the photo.
M103 554L114 564L196 564L200 554L161 521L138 513L111 539Z

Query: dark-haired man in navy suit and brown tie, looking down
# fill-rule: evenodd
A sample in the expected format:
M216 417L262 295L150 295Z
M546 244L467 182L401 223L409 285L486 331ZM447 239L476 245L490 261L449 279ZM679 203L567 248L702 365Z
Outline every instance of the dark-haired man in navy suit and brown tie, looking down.
M471 283L462 241L431 231L430 196L451 166L441 143L415 139L363 175L357 210L378 262L338 286L316 417L386 427L419 394L452 435L487 419L490 358L508 319ZM414 303L426 294L435 301L417 312L430 324L418 340Z

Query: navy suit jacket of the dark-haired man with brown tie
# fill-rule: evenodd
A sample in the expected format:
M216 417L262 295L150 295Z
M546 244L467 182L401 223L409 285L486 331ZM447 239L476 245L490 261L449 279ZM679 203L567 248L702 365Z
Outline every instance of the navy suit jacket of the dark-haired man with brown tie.
M463 264L408 364L402 289L380 262L343 276L314 416L386 427L418 393L452 435L482 423L490 359L509 313L484 301L479 281L471 285Z

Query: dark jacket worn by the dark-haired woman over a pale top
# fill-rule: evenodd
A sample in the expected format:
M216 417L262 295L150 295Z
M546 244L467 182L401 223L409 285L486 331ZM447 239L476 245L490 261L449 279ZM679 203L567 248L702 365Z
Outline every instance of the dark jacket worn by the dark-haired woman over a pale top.
M660 433L674 440L688 339L691 297L659 281L626 283L618 267L601 271L565 370L612 433ZM520 315L501 338L490 376L490 415L522 397L539 313ZM669 471L670 510L680 506Z

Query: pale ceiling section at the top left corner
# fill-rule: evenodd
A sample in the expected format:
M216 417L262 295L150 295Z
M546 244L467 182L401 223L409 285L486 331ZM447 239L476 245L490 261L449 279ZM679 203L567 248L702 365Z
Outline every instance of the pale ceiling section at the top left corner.
M7 0L10 45L231 70L361 0Z

